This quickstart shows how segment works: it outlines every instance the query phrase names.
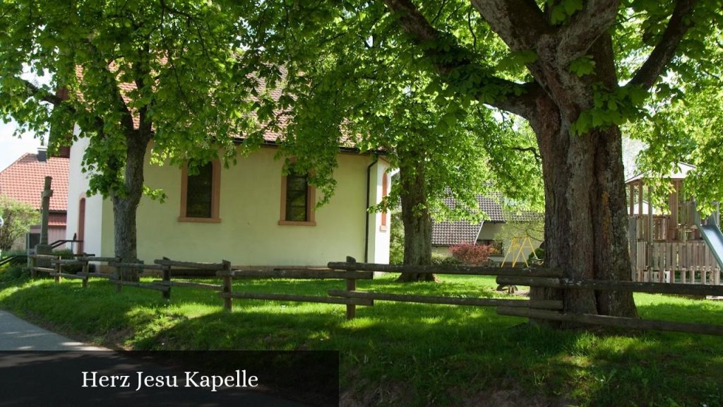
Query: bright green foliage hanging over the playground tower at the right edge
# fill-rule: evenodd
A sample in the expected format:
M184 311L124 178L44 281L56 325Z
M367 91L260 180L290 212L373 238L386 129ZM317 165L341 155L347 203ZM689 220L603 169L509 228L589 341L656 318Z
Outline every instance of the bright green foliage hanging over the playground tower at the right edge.
M703 64L690 67L696 81L671 75L661 84L649 114L629 126L630 134L647 148L638 156L638 166L664 177L679 162L693 164L686 193L698 201L698 209L711 211L714 201L723 200L723 35L708 38L714 51Z

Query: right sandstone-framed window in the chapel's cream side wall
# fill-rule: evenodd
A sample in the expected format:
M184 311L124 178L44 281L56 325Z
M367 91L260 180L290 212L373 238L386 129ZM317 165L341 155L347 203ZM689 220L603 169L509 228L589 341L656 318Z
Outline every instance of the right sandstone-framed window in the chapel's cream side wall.
M306 174L291 173L281 180L281 220L279 225L315 226L315 188Z

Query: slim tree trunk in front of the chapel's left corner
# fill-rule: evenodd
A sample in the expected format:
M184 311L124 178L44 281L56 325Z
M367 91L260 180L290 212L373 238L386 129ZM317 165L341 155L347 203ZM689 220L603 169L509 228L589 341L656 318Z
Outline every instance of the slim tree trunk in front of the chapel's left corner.
M114 194L113 223L115 256L124 263L137 261L136 212L143 194L143 164L148 141L142 137L127 137L124 194ZM138 269L121 268L121 280L138 281Z

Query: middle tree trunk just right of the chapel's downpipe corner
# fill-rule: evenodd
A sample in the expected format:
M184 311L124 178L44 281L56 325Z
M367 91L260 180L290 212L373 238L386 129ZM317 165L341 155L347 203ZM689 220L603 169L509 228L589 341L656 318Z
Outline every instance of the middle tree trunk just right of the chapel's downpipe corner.
M404 264L432 264L432 217L427 207L424 162L399 169L402 223L404 225ZM434 274L404 273L397 281L435 281Z

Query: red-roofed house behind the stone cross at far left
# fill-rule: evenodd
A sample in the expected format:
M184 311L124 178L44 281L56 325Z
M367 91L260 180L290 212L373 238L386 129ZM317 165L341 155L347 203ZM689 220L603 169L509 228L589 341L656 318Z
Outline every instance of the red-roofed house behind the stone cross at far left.
M48 157L45 149L38 154L24 154L6 169L0 172L0 195L9 196L40 210L40 195L43 193L45 177L53 177L48 217L48 243L66 238L66 219L68 209L68 169L67 157ZM40 242L40 225L30 228L30 246ZM69 239L72 239L72 233ZM25 238L15 242L13 249L24 249Z

